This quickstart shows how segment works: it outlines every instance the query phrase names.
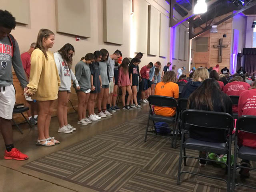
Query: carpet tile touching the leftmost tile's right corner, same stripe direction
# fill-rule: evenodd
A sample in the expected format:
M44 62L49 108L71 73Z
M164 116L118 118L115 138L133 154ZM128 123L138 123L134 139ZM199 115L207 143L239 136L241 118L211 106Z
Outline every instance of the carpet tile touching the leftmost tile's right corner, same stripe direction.
M143 167L156 153L157 152L151 150L118 145L100 157L132 166Z

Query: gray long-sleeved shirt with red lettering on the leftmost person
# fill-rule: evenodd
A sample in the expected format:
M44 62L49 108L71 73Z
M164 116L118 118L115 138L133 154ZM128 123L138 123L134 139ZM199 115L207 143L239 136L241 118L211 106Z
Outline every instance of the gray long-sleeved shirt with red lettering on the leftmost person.
M0 86L12 84L12 66L21 86L24 88L28 82L20 58L20 48L15 40L15 50L12 57L12 44L8 37L0 39Z

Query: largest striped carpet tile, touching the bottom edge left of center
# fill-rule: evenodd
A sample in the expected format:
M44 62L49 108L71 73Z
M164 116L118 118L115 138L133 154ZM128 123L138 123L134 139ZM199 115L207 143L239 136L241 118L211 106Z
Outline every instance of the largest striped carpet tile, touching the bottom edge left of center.
M118 191L140 168L98 158L66 179L108 192Z

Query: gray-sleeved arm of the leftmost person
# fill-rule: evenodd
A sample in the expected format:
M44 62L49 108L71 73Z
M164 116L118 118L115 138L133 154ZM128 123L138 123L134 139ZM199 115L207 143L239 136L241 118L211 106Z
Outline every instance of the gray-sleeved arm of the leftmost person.
M16 40L15 43L16 48L12 57L12 66L21 86L25 88L28 84L28 81L26 80L25 71L23 69L22 61L20 58L20 48Z

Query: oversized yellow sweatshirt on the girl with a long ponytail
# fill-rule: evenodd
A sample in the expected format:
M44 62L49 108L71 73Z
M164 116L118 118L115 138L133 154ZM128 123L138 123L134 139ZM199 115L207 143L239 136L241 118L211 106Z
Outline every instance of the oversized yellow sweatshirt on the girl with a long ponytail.
M46 52L48 60L40 49L31 54L31 69L27 87L35 93L32 99L49 101L58 98L60 77L52 52Z

